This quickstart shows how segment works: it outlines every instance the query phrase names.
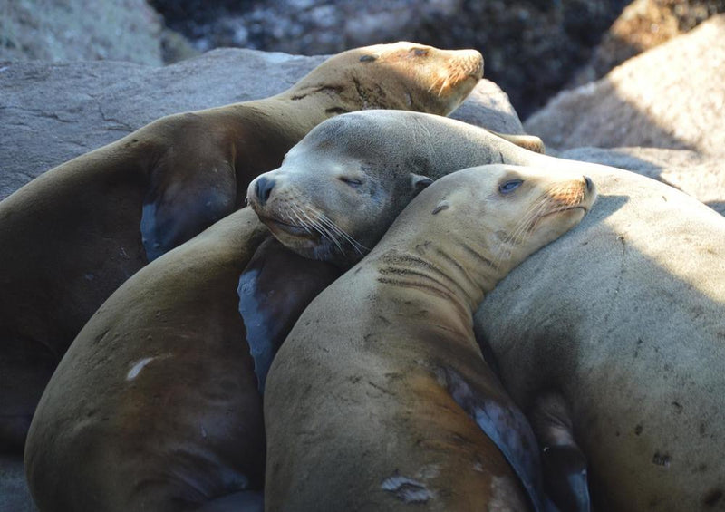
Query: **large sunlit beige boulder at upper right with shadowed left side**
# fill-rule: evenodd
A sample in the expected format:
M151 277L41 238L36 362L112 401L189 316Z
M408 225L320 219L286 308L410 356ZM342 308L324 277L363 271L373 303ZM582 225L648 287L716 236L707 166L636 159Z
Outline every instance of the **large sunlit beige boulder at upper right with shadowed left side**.
M559 93L525 123L547 146L725 154L725 15Z

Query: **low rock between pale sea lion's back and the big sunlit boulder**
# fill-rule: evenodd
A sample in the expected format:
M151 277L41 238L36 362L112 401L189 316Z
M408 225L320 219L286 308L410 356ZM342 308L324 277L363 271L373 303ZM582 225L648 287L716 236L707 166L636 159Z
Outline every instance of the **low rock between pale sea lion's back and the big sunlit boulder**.
M557 156L632 170L679 188L725 215L725 169L719 158L691 150L576 148Z

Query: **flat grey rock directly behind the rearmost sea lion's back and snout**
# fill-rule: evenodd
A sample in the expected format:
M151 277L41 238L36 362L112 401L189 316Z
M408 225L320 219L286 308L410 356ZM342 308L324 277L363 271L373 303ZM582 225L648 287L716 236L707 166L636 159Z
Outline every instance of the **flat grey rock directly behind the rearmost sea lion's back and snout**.
M45 170L161 116L282 92L324 56L224 49L166 67L132 63L0 63L0 198ZM482 81L464 121L520 133L507 95Z

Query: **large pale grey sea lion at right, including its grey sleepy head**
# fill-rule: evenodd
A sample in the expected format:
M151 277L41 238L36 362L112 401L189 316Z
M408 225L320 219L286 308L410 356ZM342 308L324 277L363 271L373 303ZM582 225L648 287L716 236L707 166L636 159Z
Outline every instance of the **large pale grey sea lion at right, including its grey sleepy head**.
M325 132L335 136L323 148ZM362 256L352 243L338 249L295 232L289 212L324 216L364 253L405 203L365 183L497 161L578 170L601 194L575 234L517 268L493 293L496 306L478 313L507 389L525 409L539 392L565 401L592 468L594 509L725 507L725 219L710 208L621 169L538 155L457 121L382 111L321 124L262 176L274 181L264 202L255 182L249 195L286 246L354 262Z

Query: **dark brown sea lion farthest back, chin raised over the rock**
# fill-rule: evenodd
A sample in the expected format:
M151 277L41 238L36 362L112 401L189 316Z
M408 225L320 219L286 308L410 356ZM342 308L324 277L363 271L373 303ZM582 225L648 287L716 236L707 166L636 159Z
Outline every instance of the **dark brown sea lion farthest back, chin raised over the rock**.
M164 117L0 202L0 449L93 312L150 259L239 208L314 125L345 111L447 114L481 78L475 50L415 43L333 56L274 97Z

